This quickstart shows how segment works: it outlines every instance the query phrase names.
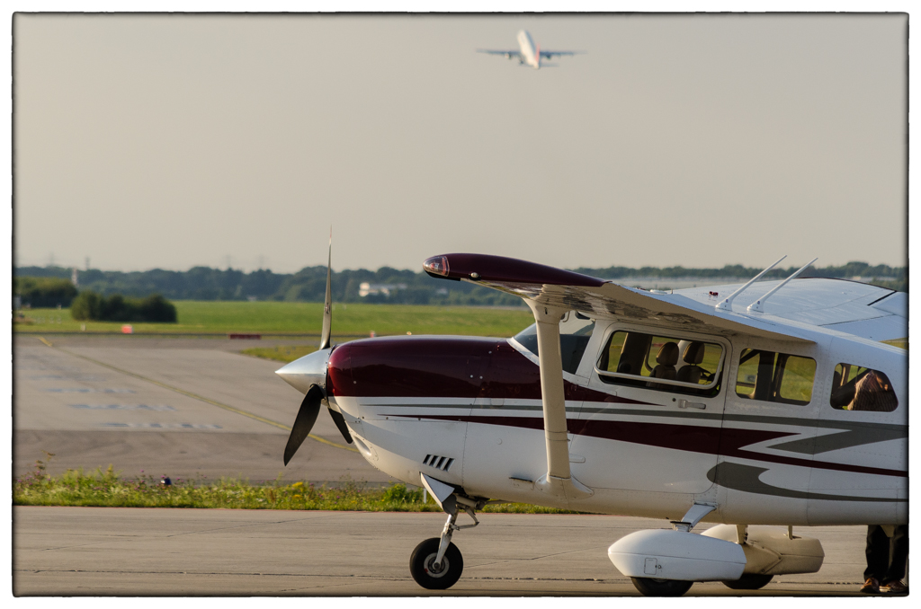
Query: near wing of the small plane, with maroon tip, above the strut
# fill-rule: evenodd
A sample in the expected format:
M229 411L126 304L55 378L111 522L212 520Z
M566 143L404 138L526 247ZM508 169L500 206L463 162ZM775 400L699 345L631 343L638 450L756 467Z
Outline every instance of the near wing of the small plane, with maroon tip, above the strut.
M772 323L733 311L721 311L680 293L651 293L624 287L569 270L525 260L483 254L445 254L427 259L432 277L473 282L512 293L526 301L575 309L600 319L648 323L659 327L697 329L724 336L743 334L812 343L799 324Z

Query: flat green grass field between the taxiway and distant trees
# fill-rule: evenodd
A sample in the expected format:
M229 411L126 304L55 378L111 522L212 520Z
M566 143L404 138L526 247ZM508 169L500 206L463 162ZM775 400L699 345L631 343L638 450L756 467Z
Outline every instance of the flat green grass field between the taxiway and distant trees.
M179 323L131 324L134 334L225 334L253 332L319 335L321 303L202 302L175 301ZM119 332L122 323L80 322L69 309L23 311L25 322L14 324L17 332ZM509 337L533 323L530 310L463 306L332 305L332 336L392 334L460 334ZM83 329L83 328L86 329Z

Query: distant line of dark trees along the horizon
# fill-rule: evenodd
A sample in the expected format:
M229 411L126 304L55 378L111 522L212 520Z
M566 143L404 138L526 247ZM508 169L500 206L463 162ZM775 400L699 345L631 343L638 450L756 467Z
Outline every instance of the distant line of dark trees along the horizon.
M577 272L629 284L632 278L650 277L667 280L695 277L751 279L761 269L727 265L721 269L694 269L685 267L606 267L575 269ZM787 277L796 267L771 270L765 279ZM62 267L20 267L17 281L32 278L64 279L71 270ZM888 265L870 266L866 262L848 262L845 265L810 268L803 277L834 277L861 281L883 287L908 291L906 267ZM383 293L359 295L361 283L405 285ZM69 282L67 282L69 284ZM194 267L190 270L146 270L122 272L117 270L84 270L79 272L81 290L90 290L102 296L116 293L144 297L160 293L172 300L257 300L322 302L326 289L326 267L306 267L296 273L274 273L271 270L218 270ZM18 285L18 284L17 284ZM76 293L75 293L76 295ZM71 296L71 299L73 296ZM433 279L423 271L397 270L381 267L379 270L342 270L332 273L332 298L339 303L393 303L408 305L507 305L519 306L521 300L507 293L497 292L467 282L444 282ZM25 293L23 302L26 303ZM63 306L64 301L61 301ZM69 301L68 301L69 302ZM56 305L57 302L54 303ZM33 306L39 306L32 303Z

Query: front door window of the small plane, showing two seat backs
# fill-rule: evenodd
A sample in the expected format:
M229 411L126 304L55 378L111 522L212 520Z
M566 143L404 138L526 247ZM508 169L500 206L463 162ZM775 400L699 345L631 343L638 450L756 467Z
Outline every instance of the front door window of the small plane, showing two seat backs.
M612 385L716 396L722 356L717 343L618 330L601 351L597 372Z

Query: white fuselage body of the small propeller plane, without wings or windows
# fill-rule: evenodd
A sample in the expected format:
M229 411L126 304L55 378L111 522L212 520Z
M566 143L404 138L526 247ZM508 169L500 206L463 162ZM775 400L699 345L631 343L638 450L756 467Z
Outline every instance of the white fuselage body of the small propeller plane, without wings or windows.
M836 333L817 333L814 344L796 348L769 339L753 344L751 337L691 336L718 343L725 363L716 396L688 396L602 382L598 353L615 326L624 324L599 323L576 372L564 372L570 463L573 476L594 491L586 499L561 500L534 484L547 464L539 396L511 397L509 388L490 396L490 387L501 385L507 374L510 360L495 359L502 350L505 358L514 350L513 357L528 360L516 364L519 370L532 365L538 373L537 357L515 339L495 339L488 356L467 360L470 378L482 384L476 397L346 392L330 399L368 462L414 485L425 473L472 496L671 520L697 501L719 506L707 522L907 522L904 353L865 349ZM365 342L352 343L353 352ZM818 362L810 402L737 396L739 356L749 348L795 350ZM885 370L899 408L831 408L828 392L839 361ZM506 367L494 373L491 366ZM365 377L356 368L354 378L352 386L362 385ZM824 438L823 448L818 438Z

